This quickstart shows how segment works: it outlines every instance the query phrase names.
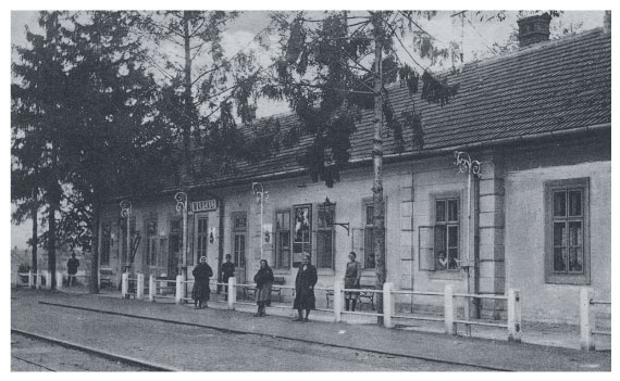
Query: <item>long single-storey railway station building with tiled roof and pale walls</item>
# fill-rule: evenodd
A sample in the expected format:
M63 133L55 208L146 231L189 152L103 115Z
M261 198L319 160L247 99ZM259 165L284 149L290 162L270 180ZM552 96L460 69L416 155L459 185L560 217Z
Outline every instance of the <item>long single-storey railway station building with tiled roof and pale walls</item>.
M405 128L398 152L384 128L387 280L401 290L441 292L450 283L455 292L504 294L513 288L521 291L523 319L574 322L582 287L596 299L611 297L611 36L594 29L548 40L548 25L543 38L521 27L520 49L443 74L459 86L449 103L413 100L423 145ZM400 115L412 98L398 85L388 91ZM278 118L283 129L298 123L295 115ZM350 163L332 188L312 182L297 160L310 137L259 163L239 162L233 174L193 178L189 277L199 257L218 274L231 254L238 283L252 282L264 258L294 285L302 253L310 253L318 285L333 287L354 251L361 283L374 284L372 135L368 110L351 137ZM461 173L464 162L471 165ZM131 200L132 234L141 236L136 271L176 276L178 191L171 185L161 196ZM119 201L102 214L99 253L100 270L120 279L128 259ZM442 300L414 303L432 310ZM505 314L487 301L474 310Z

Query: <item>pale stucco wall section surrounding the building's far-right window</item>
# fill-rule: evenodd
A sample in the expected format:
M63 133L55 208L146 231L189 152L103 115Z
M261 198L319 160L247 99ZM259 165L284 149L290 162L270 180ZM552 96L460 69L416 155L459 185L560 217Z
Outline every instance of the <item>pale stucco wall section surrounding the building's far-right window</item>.
M506 288L523 295L523 318L579 319L581 285L545 283L544 182L590 178L591 284L611 297L611 162L509 172L506 178Z

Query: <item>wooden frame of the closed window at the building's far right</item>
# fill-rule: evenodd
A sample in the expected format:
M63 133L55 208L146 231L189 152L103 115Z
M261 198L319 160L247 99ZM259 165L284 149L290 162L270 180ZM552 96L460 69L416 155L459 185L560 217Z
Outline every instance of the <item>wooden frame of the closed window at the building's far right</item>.
M554 216L554 192L582 191L581 200L581 217L569 216L569 200L567 198L566 216ZM549 180L544 183L544 234L545 234L545 283L550 284L590 284L591 283L591 251L590 251L590 177L580 177L573 179ZM567 272L557 272L554 269L554 224L565 221L567 225L571 220L580 220L582 223L582 242L583 242L583 271L569 272L567 264ZM567 230L568 236L568 230ZM567 238L568 240L568 238ZM568 246L568 245L567 245ZM569 253L567 253L567 256Z

